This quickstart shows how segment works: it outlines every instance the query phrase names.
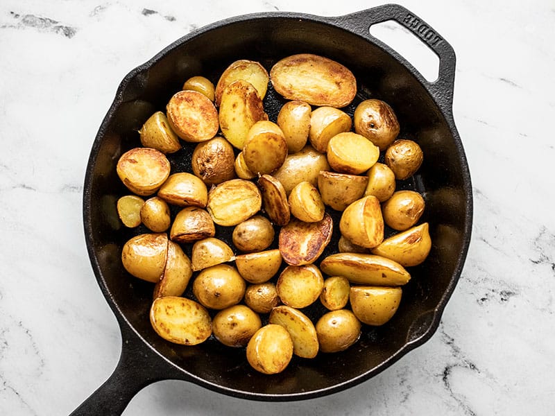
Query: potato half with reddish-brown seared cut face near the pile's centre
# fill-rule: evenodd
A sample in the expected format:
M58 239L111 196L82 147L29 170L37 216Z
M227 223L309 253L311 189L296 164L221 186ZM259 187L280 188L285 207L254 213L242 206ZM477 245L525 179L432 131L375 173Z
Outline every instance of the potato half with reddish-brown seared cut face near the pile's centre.
M284 261L291 266L302 266L318 259L332 239L333 220L330 214L316 223L304 223L291 218L280 229L278 246Z

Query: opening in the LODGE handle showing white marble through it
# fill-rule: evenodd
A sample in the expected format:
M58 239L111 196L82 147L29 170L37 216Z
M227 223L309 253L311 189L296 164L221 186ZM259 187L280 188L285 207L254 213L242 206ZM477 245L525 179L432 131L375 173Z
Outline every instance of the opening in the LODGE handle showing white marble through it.
M409 29L395 20L386 20L370 26L370 35L395 49L403 58L411 62L429 83L439 76L439 57L429 49Z

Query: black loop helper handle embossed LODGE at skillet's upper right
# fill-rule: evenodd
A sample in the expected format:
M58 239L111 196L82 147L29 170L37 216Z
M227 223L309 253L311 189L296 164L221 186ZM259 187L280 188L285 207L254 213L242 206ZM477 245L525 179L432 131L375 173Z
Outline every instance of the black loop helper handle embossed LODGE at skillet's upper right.
M350 26L352 31L359 33L380 46L387 46L373 35L370 35L370 26L388 20L395 20L400 25L409 29L420 41L439 58L438 79L433 83L422 77L429 92L434 96L444 110L452 113L453 89L455 78L456 57L452 46L438 34L432 26L420 19L413 12L398 4L384 4L361 12L342 16L341 22Z

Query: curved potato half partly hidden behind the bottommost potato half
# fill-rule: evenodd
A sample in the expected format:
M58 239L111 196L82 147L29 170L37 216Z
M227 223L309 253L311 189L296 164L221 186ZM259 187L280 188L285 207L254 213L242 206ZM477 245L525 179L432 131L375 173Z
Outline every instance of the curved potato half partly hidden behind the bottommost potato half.
M319 344L316 328L312 321L291 306L281 305L272 309L268 322L287 329L293 340L293 354L301 358L314 358L318 354Z

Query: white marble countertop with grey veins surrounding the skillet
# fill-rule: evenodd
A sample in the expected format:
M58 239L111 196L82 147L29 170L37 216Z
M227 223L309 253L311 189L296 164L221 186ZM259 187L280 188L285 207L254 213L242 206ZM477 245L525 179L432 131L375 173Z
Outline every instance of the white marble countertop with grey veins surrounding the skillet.
M328 397L272 404L162 381L124 415L552 414L554 3L400 3L456 51L454 119L474 187L472 243L438 331ZM119 328L89 263L81 203L92 141L121 78L225 17L336 16L378 4L0 3L0 414L69 414L118 361Z

